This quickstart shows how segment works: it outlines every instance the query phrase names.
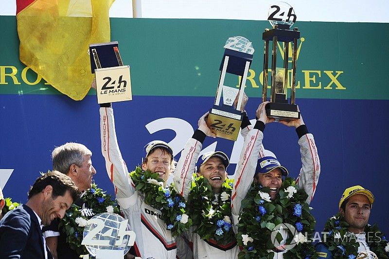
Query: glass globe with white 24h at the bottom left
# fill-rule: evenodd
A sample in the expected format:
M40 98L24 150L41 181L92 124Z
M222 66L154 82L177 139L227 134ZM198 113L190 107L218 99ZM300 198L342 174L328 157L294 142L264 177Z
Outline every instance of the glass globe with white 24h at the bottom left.
M125 255L135 241L135 233L129 230L128 220L114 213L100 213L88 220L84 229L84 244L92 256L98 250L123 250Z

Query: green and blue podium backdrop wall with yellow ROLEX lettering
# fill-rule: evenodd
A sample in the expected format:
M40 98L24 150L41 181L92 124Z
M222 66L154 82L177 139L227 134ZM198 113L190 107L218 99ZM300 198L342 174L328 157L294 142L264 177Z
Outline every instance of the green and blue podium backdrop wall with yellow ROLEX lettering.
M0 24L0 169L13 169L7 182L6 175L0 175L4 196L24 203L39 172L52 169L53 148L69 141L93 152L94 179L113 193L100 152L95 92L76 102L37 80L18 60L16 17L1 16ZM299 41L296 102L315 136L321 162L311 203L316 228L321 230L336 213L345 188L362 185L376 198L370 223L377 222L388 234L389 51L383 43L389 38L389 25L296 26L304 38ZM113 104L118 142L129 169L141 162L143 146L153 139L170 142L178 160L198 118L213 103L223 46L230 36L245 36L256 50L245 89L246 110L255 118L262 94L262 32L268 27L267 21L111 18L111 40L119 41L122 59L131 66L133 101ZM278 55L281 59L279 48ZM294 128L266 125L265 148L294 177L301 167L297 140ZM241 145L241 138L207 138L204 148L231 155L232 175Z

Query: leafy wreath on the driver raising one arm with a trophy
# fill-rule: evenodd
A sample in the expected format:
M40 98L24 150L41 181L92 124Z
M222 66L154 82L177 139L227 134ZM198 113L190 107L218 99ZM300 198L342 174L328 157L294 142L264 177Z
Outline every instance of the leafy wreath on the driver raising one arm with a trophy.
M140 167L131 172L130 177L135 190L144 195L144 203L160 210L166 229L171 231L172 236L189 230L192 219L186 212L186 201L174 189L173 183L164 188L164 180L159 178L158 173L143 171Z

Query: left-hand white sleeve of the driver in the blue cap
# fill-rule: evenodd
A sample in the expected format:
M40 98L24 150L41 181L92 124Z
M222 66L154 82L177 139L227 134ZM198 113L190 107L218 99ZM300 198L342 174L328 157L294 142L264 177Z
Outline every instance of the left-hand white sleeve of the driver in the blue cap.
M248 132L243 144L231 197L231 212L235 224L237 224L241 210L241 202L246 197L253 181L263 138L262 131L252 129Z

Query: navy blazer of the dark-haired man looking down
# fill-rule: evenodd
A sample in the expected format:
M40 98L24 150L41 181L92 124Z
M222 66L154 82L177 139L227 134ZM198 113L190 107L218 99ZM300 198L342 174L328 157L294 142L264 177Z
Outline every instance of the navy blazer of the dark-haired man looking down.
M5 214L0 221L1 259L45 259L43 249L42 230L30 207L22 205Z

